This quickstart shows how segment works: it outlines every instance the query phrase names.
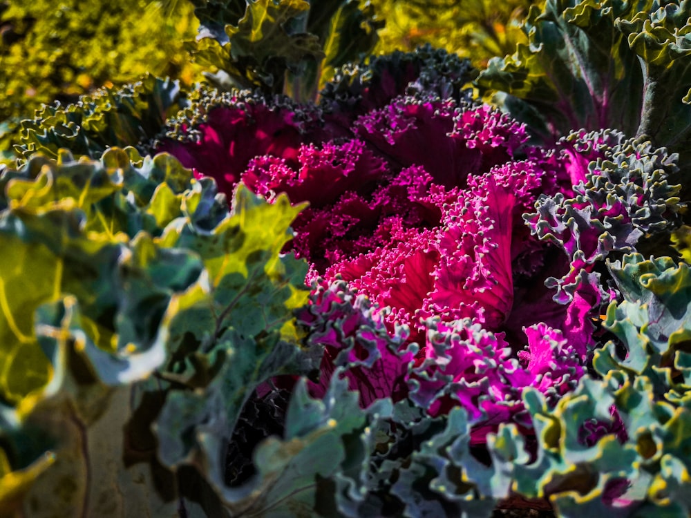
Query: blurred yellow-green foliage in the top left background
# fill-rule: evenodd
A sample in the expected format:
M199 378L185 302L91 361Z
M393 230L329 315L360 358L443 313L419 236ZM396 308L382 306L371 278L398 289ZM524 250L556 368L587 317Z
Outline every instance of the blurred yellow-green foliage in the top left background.
M197 26L184 0L0 0L0 121L147 72L189 85Z

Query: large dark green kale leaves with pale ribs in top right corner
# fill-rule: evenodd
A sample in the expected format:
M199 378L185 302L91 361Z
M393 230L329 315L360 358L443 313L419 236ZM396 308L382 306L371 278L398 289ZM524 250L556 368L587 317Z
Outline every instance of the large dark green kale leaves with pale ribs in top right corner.
M641 0L550 0L524 23L526 44L496 57L477 86L551 142L576 128L612 128L679 154L670 183L691 198L691 107L688 61L691 3ZM685 215L684 215L685 214ZM672 234L691 260L691 220ZM674 253L661 240L646 253Z

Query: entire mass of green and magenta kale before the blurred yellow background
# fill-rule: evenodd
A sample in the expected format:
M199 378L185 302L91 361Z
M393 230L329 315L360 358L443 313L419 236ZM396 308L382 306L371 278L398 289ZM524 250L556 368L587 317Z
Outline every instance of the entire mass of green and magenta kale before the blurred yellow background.
M369 7L195 3L220 90L0 171L0 516L688 517L686 3L533 10L513 117Z

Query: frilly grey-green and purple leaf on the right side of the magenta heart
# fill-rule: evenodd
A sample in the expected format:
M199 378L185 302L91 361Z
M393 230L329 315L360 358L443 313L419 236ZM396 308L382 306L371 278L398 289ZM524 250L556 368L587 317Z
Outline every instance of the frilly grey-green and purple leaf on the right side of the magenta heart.
M670 184L679 171L677 156L618 131L580 131L560 142L571 148L573 193L543 193L535 202L536 212L523 217L533 235L553 242L569 258L560 278L545 280L556 288L554 300L581 300L596 309L616 296L606 281L605 258L636 250L659 252L679 226L679 212L685 210L678 196L681 185Z

